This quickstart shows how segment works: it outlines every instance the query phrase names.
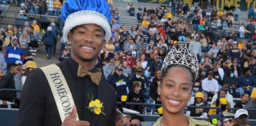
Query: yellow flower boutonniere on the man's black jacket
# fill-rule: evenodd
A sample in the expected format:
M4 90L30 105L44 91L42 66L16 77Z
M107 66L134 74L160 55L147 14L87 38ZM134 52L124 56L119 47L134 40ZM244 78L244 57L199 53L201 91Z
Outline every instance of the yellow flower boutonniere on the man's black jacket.
M92 99L93 99L93 97L92 97ZM102 114L102 115L106 116L103 102L101 102L98 99L91 100L89 102L89 106L87 107L87 109L96 115Z

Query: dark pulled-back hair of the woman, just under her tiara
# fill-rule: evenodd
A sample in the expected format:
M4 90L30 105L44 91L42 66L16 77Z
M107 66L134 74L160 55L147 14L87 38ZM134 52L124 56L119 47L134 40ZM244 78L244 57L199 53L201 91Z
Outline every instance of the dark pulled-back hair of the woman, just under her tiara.
M195 80L196 80L195 74L191 71L190 68L188 68L188 67L186 67L186 66L169 65L169 66L165 67L165 68L163 69L163 71L162 71L161 80L163 80L163 78L167 75L168 70L169 70L170 68L173 68L173 67L181 67L181 68L187 69L187 71L190 72L192 86L194 87L194 85L195 85Z

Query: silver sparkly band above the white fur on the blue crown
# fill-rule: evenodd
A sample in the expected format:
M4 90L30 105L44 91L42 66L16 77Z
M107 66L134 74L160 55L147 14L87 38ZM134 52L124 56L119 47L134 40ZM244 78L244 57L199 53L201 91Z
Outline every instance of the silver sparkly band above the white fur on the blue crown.
M82 11L77 11L77 12L71 13L71 15L69 15L68 18L66 18L65 23L68 22L71 18L78 17L78 16L83 16L83 15L100 16L100 17L104 18L104 20L106 20L106 22L109 22L109 21L107 21L106 16L102 15L102 13L100 13L100 12L89 11L89 10L82 10Z

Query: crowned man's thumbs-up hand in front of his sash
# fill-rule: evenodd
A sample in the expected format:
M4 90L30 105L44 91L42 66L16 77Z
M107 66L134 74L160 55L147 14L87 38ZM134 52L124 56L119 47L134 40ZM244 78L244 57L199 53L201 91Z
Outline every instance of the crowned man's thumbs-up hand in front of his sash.
M61 126L79 126L79 125L83 125L83 126L89 126L90 123L87 121L75 121L74 117L75 115L77 115L77 108L75 106L73 106L73 110L72 112L69 114L69 116L66 116L64 122L62 123Z

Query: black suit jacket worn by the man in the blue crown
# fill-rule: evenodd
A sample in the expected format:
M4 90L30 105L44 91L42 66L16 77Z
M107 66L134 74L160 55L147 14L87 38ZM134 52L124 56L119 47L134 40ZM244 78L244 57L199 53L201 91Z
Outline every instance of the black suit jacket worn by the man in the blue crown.
M78 92L75 87L77 75L74 74L68 65L68 60L57 64L61 68L66 81L68 82L75 105L77 106L78 116L84 114L83 106L79 103L83 99L78 99ZM116 96L113 86L102 78L97 87L97 99L103 102L106 116L93 115L87 120L91 126L115 125ZM85 107L85 106L84 106ZM88 113L87 113L88 114ZM21 94L21 105L17 115L16 125L61 125L61 119L53 98L50 86L41 69L34 69L26 78L23 92Z

